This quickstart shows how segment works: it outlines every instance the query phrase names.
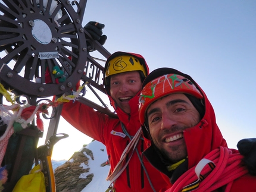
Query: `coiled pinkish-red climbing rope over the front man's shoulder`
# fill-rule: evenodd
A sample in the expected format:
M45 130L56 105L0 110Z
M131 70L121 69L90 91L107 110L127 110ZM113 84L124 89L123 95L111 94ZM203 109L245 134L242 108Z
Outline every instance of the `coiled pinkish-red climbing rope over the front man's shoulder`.
M233 151L235 152L235 150ZM189 169L185 174L183 174L173 186L166 192L180 192L180 191L192 191L185 190L185 187L191 185L198 181L197 188L193 188L194 191L214 191L226 185L225 192L230 191L233 181L248 173L245 166L242 165L243 156L240 153L233 153L232 150L227 147L222 147L213 150L204 157L204 159L210 160L215 164L215 168L211 169L210 166L202 166L200 175L202 175L204 180L200 180L198 175L196 175L195 168ZM200 166L198 163L197 166ZM200 168L199 168L200 169Z

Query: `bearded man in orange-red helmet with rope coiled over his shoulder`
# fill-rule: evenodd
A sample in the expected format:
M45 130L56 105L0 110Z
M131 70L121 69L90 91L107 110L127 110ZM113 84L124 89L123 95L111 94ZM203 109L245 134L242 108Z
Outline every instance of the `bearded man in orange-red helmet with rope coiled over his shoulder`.
M143 155L170 178L168 192L256 191L256 177L238 150L227 148L211 103L189 75L160 68L142 88Z

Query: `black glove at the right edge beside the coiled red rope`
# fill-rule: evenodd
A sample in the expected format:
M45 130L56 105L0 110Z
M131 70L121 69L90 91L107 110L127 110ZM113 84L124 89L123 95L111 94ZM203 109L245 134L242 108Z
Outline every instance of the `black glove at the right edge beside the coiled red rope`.
M243 162L249 174L256 175L256 138L242 139L238 141L237 147L241 155L245 156Z

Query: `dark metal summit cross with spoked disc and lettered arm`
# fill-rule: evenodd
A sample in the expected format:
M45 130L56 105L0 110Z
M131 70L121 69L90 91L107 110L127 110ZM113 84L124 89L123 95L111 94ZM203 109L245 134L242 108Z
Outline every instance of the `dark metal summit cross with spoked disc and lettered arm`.
M0 83L4 91L17 96L15 105L41 106L42 102L51 103L49 96L60 97L76 90L77 84L88 84L89 89L102 103L97 105L92 98L81 96L79 102L112 117L115 114L108 109L101 97L95 92L105 93L103 86L103 67L90 51L95 51L108 58L110 53L82 27L86 0L2 0L0 2ZM89 45L89 46L88 46ZM104 59L99 59L104 61ZM6 89L6 90L5 90ZM4 96L0 94L0 103ZM6 102L6 101L5 101ZM13 101L11 103L14 103ZM33 108L32 106L32 108ZM51 106L51 114L42 114L50 119L46 141L57 133L62 105ZM13 168L9 171L9 179L5 191L11 191L17 178L27 174L20 172L24 160L21 156L26 140L33 140L29 154L32 165L36 156L35 150L42 131L39 131L40 116L37 114L28 128L17 132L21 137L17 154L11 155ZM33 117L33 115L31 115ZM35 117L34 117L35 118ZM39 118L39 119L38 119ZM35 125L36 124L36 125ZM6 130L6 124L0 119L0 131ZM16 137L16 138L17 138ZM11 152L12 150L7 150ZM36 158L35 158L36 160ZM8 162L7 162L8 163ZM17 176L18 175L18 176Z

